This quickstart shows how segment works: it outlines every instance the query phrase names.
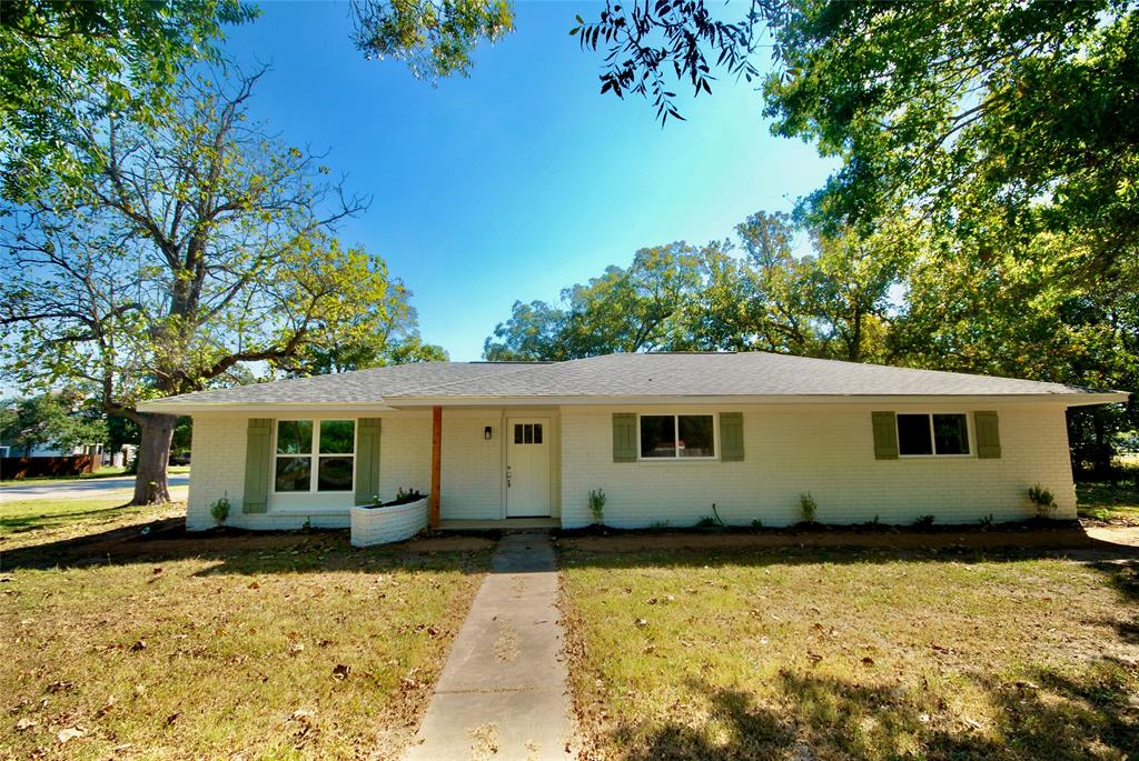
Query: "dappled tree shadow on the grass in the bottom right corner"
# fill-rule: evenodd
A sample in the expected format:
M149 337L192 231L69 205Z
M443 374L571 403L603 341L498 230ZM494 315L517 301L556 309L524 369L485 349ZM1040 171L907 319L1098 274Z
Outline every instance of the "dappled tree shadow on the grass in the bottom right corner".
M637 725L617 726L611 734L618 746L638 748L624 756L630 761L1122 759L1139 751L1139 723L1122 668L1103 661L1079 678L1039 671L1031 687L975 679L994 709L991 728L951 715L920 689L785 670L772 705L759 705L745 692L689 680L689 689L706 701L723 728L714 739L682 722L666 722L647 736Z

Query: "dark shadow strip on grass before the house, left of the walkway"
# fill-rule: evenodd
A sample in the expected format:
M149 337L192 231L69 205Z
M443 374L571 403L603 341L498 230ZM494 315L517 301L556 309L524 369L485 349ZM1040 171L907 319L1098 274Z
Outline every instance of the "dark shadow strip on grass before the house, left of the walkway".
M186 530L183 518L166 518L8 551L0 544L0 571L199 559L215 562L202 571L202 576L329 570L374 572L396 566L451 566L465 573L481 573L485 562L475 556L486 552L489 544L475 540L467 546L456 546L428 539L355 548L349 544L347 529L246 531L219 528L190 532Z

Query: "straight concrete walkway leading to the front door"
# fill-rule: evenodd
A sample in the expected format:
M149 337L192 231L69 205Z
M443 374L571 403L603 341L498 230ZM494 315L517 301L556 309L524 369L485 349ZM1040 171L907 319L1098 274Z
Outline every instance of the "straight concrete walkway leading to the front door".
M407 761L573 758L546 533L508 533L451 647Z

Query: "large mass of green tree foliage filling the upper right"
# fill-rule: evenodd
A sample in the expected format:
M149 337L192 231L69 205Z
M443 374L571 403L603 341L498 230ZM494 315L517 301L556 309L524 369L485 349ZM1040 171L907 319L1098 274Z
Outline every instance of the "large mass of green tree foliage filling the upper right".
M753 317L757 344L821 355L802 328L818 313L839 345L829 356L1133 389L1137 24L1115 0L754 0L727 14L633 0L575 33L609 53L603 91L647 96L662 118L673 74L696 92L718 66L752 77L755 41L771 40L775 133L841 163L796 218L843 241L825 250L849 274L813 288L798 257L777 258L760 300L789 309ZM787 250L780 222L760 220L769 255ZM880 283L895 267L887 290L906 300L891 306ZM1073 464L1106 475L1116 433L1137 425L1134 404L1075 411Z

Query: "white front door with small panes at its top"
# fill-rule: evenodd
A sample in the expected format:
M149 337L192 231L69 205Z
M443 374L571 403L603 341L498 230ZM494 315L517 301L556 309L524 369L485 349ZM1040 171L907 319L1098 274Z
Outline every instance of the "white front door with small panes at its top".
M506 436L506 516L549 515L549 419L511 417Z

